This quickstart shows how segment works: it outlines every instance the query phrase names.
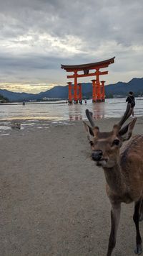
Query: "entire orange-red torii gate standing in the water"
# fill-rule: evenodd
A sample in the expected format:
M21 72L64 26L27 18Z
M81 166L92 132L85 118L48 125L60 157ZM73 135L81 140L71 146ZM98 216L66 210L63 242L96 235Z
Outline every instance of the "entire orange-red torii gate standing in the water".
M115 57L114 57L115 58ZM77 83L77 78L82 78L86 76L95 76L96 79L92 80L92 102L101 102L104 101L104 83L105 81L99 81L100 75L107 75L108 71L100 71L100 68L107 68L109 64L114 63L114 58L109 60L99 61L97 63L88 63L82 65L62 65L61 68L64 68L66 72L74 72L74 75L67 76L67 78L74 78L74 96L71 93L71 82L69 85L69 103L72 103L74 99L75 103L78 103L78 100L82 100L82 83ZM94 73L89 73L89 70L95 70ZM79 74L78 71L83 71L83 74ZM79 93L78 93L79 91Z

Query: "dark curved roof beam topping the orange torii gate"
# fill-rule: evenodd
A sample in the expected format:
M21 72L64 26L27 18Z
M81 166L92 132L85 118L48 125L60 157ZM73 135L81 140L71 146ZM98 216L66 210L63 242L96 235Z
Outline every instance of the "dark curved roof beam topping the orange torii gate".
M61 64L61 68L64 68L64 70L69 71L69 70L89 70L89 69L94 69L96 68L104 68L108 67L109 64L114 63L114 58L111 58L109 60L103 60L103 61L99 61L97 63L87 63L87 64L82 64L82 65L62 65Z

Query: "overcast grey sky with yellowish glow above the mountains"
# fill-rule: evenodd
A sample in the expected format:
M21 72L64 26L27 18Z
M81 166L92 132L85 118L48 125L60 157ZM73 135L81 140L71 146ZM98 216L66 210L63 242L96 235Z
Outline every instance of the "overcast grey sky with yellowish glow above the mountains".
M142 14L142 0L0 0L0 88L39 93L65 86L61 64L114 56L106 84L142 78Z

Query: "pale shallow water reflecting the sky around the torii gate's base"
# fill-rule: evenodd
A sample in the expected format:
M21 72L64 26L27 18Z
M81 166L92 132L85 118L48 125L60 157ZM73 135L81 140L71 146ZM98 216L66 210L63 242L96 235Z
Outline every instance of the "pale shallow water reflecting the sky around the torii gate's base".
M136 99L134 108L135 116L143 116L143 98ZM67 121L87 119L85 109L93 112L94 119L120 117L126 109L126 99L106 99L105 102L92 104L92 100L87 100L87 104L11 104L0 105L0 131L5 132L11 128L11 122L19 120L21 127L33 127L35 124L41 128L41 120L52 122L52 124L68 124ZM45 126L46 127L46 126ZM46 127L48 129L48 127Z

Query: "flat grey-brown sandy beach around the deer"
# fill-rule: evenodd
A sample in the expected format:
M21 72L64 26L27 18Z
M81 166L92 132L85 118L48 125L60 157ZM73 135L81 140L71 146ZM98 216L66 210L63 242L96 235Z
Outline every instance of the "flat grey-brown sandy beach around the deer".
M110 130L117 119L97 125ZM81 122L0 137L0 255L104 256L110 204ZM134 134L143 134L143 118ZM113 256L134 255L134 205L122 204ZM143 238L143 223L140 223Z

